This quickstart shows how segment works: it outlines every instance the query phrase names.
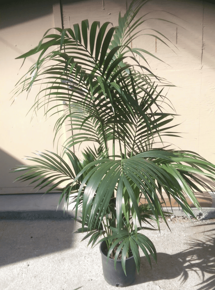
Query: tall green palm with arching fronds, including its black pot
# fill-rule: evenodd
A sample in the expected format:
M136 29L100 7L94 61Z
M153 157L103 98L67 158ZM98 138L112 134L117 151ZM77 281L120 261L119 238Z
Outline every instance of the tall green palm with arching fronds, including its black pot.
M153 229L150 220L157 222L158 229L159 218L167 224L162 193L194 217L185 196L200 209L194 191L209 189L203 177L215 180L215 166L198 154L158 146L163 136L175 136L170 124L174 114L162 110L168 100L158 83L166 84L147 68L144 55L155 56L130 47L145 21L145 16L135 17L146 2L132 1L126 14L119 14L117 27L109 22L100 27L97 21L89 26L83 20L73 29L55 28L56 34L48 30L37 47L18 57L39 53L15 94L39 84L34 109L60 112L56 135L66 126L69 137L61 154L47 151L28 157L36 165L15 168L22 173L17 180L32 180L41 189L51 185L47 192L64 185L60 201L64 198L65 206L75 204L75 218L81 223L77 232L86 232L92 246L101 243L104 277L118 286L132 283L136 269L139 272L139 249L150 264L150 254L157 259L143 232ZM85 146L81 159L74 153L80 145ZM141 197L147 204L139 204ZM115 267L113 272L105 272L107 259ZM110 278L113 273L116 280Z

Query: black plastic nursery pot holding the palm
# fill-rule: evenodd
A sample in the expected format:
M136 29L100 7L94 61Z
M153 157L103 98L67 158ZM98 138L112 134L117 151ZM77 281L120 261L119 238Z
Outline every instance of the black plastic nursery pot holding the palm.
M100 244L100 253L102 255L102 268L104 279L108 282L108 284L116 287L125 287L133 283L136 278L136 264L134 257L131 256L130 258L126 259L126 276L123 271L121 260L116 261L116 270L114 268L114 259L110 258L107 263L107 255L105 255L106 249L107 244L105 241L103 241Z

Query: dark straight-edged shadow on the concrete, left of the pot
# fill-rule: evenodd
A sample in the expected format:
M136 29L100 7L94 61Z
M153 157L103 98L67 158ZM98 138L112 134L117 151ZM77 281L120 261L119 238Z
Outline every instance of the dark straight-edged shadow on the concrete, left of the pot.
M72 248L75 221L16 219L0 221L0 267Z

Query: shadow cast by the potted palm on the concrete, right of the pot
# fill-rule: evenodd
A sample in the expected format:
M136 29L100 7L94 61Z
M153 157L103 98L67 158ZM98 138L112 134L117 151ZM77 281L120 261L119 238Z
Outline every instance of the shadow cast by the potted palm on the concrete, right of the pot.
M211 290L215 285L215 235L206 236L205 240L193 239L187 243L185 251L169 255L158 253L158 265L152 261L152 269L146 259L141 257L141 268L134 284L149 281L171 280L179 277L181 284L194 271L202 280L196 284L196 290ZM213 275L213 276L212 276Z

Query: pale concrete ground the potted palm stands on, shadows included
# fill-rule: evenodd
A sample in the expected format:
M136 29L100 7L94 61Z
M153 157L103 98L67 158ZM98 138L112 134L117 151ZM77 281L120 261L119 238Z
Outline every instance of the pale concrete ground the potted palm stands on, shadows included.
M171 218L171 232L143 232L154 243L158 265L143 253L135 282L127 289L215 289L215 219ZM0 289L115 289L102 273L99 245L87 247L72 217L37 214L1 216Z

